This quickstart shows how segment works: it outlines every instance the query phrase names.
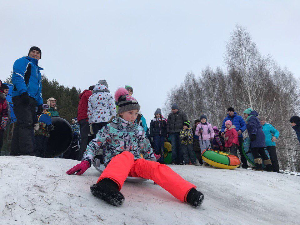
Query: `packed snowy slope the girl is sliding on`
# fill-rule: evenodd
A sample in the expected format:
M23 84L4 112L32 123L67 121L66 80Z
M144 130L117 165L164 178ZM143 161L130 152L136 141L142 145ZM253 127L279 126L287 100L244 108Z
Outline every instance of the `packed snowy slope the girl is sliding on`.
M90 192L98 171L65 172L78 161L0 157L0 224L300 224L300 177L245 169L172 165L204 193L200 208L152 181L125 183L113 207Z

